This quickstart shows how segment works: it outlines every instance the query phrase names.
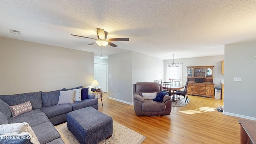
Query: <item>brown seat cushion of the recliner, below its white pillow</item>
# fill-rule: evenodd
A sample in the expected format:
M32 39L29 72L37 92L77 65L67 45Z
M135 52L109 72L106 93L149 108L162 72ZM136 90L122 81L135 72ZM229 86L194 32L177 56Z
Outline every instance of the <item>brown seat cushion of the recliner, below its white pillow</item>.
M160 112L164 111L166 105L164 102L156 102L154 100L144 100L142 103L142 111L146 112Z

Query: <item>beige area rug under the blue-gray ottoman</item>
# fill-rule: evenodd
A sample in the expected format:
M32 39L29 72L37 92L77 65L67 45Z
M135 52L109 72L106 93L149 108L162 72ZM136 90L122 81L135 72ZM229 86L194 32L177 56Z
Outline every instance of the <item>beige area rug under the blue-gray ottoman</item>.
M65 144L80 144L75 136L68 130L66 122L55 126L55 128L60 133ZM113 120L112 136L107 140L102 140L98 144L141 144L145 139L145 136Z

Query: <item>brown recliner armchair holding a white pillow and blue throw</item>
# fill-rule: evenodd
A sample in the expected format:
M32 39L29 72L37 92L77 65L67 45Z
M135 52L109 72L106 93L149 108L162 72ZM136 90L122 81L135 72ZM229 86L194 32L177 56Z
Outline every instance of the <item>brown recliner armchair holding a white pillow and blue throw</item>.
M143 93L157 94L162 91L162 85L158 82L136 82L133 84L133 104L137 116L161 116L168 115L172 110L171 97L165 95L163 102L156 102L152 99L144 99Z

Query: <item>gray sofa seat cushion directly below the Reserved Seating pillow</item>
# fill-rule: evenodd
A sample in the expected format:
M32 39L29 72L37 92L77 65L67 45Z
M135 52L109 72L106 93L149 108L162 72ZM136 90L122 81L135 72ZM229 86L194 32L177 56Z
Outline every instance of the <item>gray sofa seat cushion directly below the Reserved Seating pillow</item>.
M17 123L17 122L27 122L31 127L33 127L38 124L50 122L50 120L47 118L46 114L44 114L43 112L40 112L37 114L30 114L29 116L24 116L21 118L8 119L8 123Z

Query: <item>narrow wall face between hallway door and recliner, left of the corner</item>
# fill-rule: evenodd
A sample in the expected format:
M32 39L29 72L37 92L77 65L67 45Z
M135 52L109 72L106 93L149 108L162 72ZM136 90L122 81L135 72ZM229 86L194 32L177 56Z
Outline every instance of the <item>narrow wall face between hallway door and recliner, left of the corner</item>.
M131 104L132 51L108 56L108 98ZM120 94L119 94L120 91Z

